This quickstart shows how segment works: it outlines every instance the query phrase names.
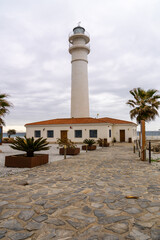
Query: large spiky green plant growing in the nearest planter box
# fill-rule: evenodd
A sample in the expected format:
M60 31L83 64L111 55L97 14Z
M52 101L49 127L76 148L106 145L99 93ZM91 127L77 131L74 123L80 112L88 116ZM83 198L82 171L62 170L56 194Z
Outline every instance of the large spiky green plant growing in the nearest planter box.
M11 148L19 151L23 151L27 153L27 157L33 157L34 152L42 151L42 150L49 150L47 139L38 138L34 139L32 138L21 138L16 137L12 145L10 145Z

